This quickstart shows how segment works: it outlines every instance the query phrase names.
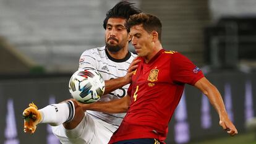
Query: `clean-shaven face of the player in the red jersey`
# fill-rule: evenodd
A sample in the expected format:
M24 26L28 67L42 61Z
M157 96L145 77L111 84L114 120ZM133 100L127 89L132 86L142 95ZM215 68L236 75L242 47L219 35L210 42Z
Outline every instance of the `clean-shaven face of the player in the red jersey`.
M132 36L132 45L138 56L150 56L153 50L153 37L150 33L144 30L142 24L131 27L130 35Z

